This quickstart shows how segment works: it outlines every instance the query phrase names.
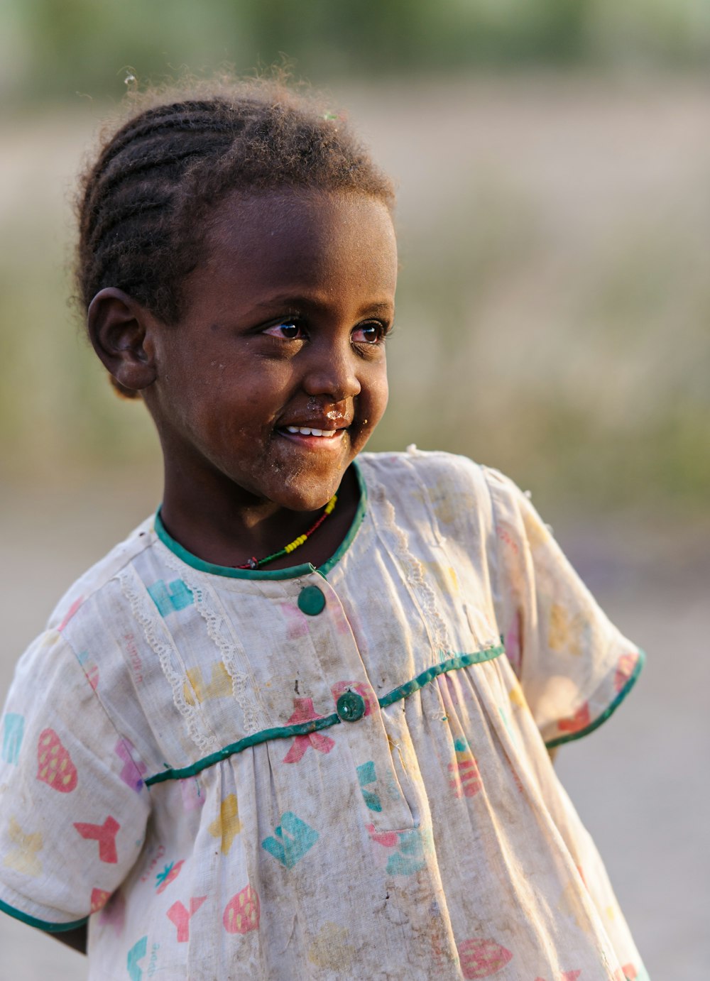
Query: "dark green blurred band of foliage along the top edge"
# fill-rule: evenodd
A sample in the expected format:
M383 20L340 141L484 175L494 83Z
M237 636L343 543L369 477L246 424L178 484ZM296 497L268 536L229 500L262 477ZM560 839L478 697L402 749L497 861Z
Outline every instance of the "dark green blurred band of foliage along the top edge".
M511 65L706 64L707 0L3 0L8 99L121 93L162 76L282 53L317 82Z

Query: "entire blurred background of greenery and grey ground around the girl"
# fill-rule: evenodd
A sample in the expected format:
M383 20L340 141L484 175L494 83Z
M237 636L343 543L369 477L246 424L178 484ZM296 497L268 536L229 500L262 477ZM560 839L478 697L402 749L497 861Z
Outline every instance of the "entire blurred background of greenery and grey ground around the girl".
M708 0L0 0L0 695L59 594L160 495L143 407L113 394L69 302L77 170L128 75L248 74L284 55L399 183L373 448L464 452L534 490L648 649L629 707L559 766L651 976L697 981ZM0 949L8 976L84 976L2 918Z

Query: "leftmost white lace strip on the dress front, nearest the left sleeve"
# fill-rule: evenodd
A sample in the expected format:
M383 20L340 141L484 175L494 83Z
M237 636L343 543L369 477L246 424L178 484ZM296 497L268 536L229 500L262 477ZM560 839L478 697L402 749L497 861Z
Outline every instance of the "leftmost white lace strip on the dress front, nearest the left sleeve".
M203 720L196 704L189 705L185 700L184 686L187 684L187 673L184 667L181 666L178 649L160 619L160 614L155 609L155 604L152 599L149 597L146 598L147 594L142 580L133 570L132 566L122 569L117 574L117 579L121 583L121 592L126 596L130 604L131 613L143 628L146 641L158 655L163 674L173 689L173 701L178 712L185 720L185 726L190 739L203 752L219 746L217 737L213 733L205 731ZM159 634L163 634L163 637L161 638ZM181 666L180 670L176 670L176 664Z

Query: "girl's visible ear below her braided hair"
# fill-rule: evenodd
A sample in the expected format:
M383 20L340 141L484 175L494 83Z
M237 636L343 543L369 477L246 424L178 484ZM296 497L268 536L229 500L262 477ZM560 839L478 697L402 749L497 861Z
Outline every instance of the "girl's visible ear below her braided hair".
M145 307L115 286L100 289L89 304L93 348L112 378L130 391L147 388L156 379L154 324Z

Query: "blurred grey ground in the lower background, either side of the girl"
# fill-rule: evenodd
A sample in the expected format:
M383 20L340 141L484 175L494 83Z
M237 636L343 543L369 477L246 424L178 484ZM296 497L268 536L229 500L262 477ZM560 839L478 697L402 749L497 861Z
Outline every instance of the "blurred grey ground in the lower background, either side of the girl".
M153 477L147 487L0 498L0 697L64 588L137 524L157 492ZM558 772L606 860L651 977L700 981L710 959L703 817L710 793L701 777L710 749L710 542L671 546L657 529L629 520L603 534L558 522L557 536L616 623L648 653L633 695L597 732L560 751ZM79 955L0 917L3 981L85 976Z

